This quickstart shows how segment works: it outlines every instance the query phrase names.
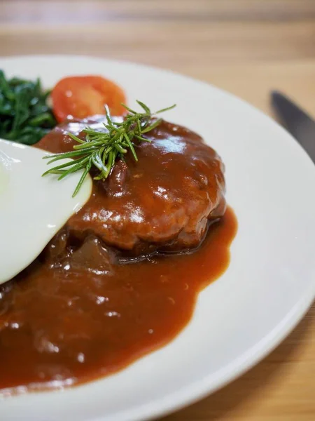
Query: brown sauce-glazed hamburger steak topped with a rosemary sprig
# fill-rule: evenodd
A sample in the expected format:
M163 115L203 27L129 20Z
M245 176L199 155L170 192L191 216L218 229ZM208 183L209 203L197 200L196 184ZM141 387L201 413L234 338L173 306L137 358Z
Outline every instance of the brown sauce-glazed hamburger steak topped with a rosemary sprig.
M37 147L69 152L90 126L105 130L104 116L68 121L48 133ZM79 135L81 138L83 133ZM137 142L132 154L116 162L109 178L94 182L92 196L67 222L79 241L93 234L127 254L172 252L196 248L209 222L225 213L223 163L202 138L182 126L162 121Z

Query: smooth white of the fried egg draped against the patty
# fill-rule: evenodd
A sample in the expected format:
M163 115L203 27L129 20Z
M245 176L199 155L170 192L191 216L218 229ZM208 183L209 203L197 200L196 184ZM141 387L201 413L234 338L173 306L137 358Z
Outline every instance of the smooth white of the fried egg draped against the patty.
M47 154L0 139L0 283L35 260L90 198L90 176L72 197L81 171L60 181L57 175L41 176L49 168Z

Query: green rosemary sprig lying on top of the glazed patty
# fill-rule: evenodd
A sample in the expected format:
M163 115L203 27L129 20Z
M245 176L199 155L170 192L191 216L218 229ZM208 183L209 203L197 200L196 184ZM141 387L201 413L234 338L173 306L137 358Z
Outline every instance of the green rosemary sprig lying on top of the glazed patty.
M143 102L137 102L144 112L134 111L134 109L123 104L123 107L127 109L129 114L125 116L125 119L122 122L113 121L109 112L109 107L106 105L107 122L104 123L104 127L106 128L105 133L86 127L83 130L83 133L85 133L84 140L78 138L76 135L68 133L71 139L78 142L78 145L73 146L73 151L44 156L43 159L50 159L48 165L52 162L59 161L60 159L71 159L71 161L50 168L43 173L43 175L59 174L58 180L62 180L62 178L71 173L84 170L78 185L73 192L72 196L74 197L80 190L85 177L93 166L99 171L99 174L94 177L94 180L104 180L111 173L111 169L115 165L116 159L124 159L124 155L127 154L128 149L130 149L134 160L138 161L135 149L137 143L134 143L134 141L151 142L151 140L144 138L143 135L153 130L153 128L157 127L162 121L162 119L152 121L153 117L161 112L176 107L176 105L152 113L151 109Z

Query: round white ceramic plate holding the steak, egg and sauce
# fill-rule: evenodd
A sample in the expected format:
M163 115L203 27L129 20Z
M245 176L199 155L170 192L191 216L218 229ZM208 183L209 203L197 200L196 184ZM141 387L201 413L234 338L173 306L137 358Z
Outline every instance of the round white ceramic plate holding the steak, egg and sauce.
M315 294L315 166L286 131L228 93L149 67L41 56L0 58L0 68L41 76L45 86L66 75L102 74L125 88L130 105L176 102L167 118L221 154L239 222L230 267L200 293L176 340L96 382L3 399L1 420L147 420L214 392L288 335Z

